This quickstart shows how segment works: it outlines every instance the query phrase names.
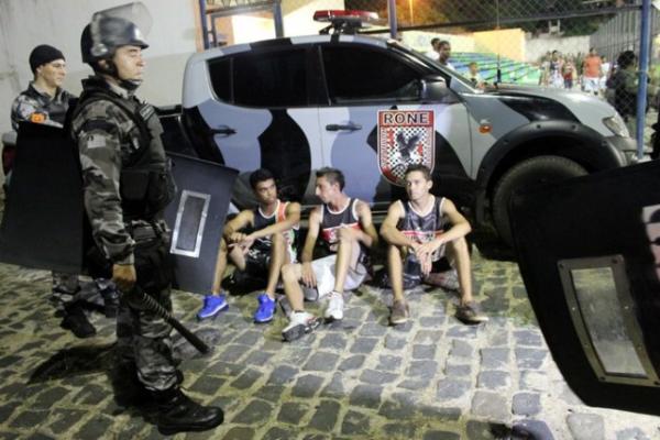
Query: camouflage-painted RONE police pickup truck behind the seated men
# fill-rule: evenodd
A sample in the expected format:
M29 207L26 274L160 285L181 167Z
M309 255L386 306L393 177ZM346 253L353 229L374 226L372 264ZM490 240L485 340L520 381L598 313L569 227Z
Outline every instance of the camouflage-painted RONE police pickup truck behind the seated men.
M314 170L333 166L350 196L384 211L405 195L406 167L422 163L433 193L476 224L494 222L510 243L516 188L635 161L622 118L600 99L537 87L484 91L396 41L352 34L360 16L315 18L334 32L213 48L187 63L180 123L200 157L241 172L237 207L252 202L255 168L311 205Z

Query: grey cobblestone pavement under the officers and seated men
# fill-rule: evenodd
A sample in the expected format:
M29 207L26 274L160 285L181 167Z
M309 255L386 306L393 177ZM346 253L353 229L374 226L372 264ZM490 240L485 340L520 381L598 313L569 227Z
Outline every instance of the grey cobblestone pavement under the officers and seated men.
M557 439L660 438L659 418L584 406L548 353L517 266L474 256L491 316L479 327L453 318L458 298L440 289L413 290L414 319L388 327L391 294L364 286L343 322L283 343L282 314L252 323L256 294L197 322L200 297L175 292L176 316L215 346L200 355L175 337L184 387L226 411L215 431L177 438L492 439L524 418ZM0 265L0 439L160 438L147 416L114 402L113 322L94 314L99 334L75 339L53 316L48 283L46 272Z

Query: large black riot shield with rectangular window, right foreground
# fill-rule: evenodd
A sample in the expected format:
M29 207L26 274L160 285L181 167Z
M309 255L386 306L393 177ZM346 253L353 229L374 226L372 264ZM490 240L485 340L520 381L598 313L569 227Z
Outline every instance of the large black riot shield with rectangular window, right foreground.
M520 273L584 403L660 415L660 162L517 194Z

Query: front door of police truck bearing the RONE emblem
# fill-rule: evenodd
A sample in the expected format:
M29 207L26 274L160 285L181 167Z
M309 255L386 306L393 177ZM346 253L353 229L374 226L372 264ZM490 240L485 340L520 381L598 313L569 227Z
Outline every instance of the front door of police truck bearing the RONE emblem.
M345 174L346 193L386 209L405 195L403 175L422 163L452 197L471 167L465 107L421 99L428 67L383 45L318 46L327 105L319 109L323 163Z

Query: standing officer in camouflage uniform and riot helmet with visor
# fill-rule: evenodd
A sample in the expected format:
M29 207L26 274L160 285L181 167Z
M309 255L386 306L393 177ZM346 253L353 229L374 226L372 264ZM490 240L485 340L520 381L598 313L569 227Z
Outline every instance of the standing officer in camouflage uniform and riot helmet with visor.
M179 389L170 327L131 296L142 289L172 310L169 231L162 212L175 187L158 118L134 95L145 67L142 51L148 45L132 21L97 13L80 46L82 61L94 69L82 80L72 119L96 244L88 257L100 272L110 272L122 292L117 376L130 377L129 388L144 392L124 398L147 397L157 404L164 435L215 428L223 420L222 410L200 406Z

